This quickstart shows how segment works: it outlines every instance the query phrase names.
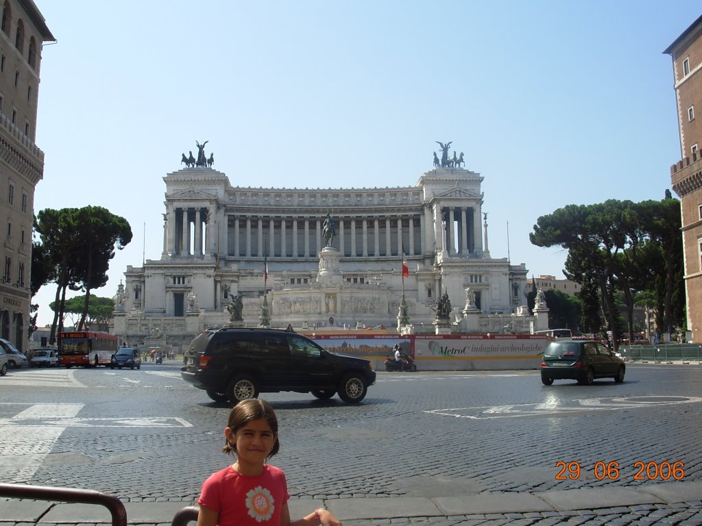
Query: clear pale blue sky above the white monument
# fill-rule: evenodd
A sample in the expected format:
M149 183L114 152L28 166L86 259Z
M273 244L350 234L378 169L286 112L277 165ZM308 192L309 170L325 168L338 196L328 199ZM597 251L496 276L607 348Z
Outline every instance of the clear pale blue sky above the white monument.
M541 215L663 198L680 159L665 48L698 1L35 0L44 46L35 213L101 205L159 259L166 173L208 140L234 186L398 187L453 141L484 177L492 257L562 278ZM508 227L509 225L509 227ZM508 243L509 239L509 243ZM38 324L51 323L45 286Z

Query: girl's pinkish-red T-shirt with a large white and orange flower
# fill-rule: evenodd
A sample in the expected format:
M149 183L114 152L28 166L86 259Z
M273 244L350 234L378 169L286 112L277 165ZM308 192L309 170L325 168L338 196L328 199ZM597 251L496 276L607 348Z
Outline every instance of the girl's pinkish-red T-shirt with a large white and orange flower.
M249 477L228 466L205 480L197 504L219 514L218 526L279 526L289 498L281 469L266 464L263 473Z

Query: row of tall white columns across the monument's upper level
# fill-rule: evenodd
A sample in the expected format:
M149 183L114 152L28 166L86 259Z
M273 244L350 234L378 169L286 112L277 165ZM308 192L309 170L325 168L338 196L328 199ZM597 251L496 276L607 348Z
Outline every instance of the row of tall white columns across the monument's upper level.
M187 202L169 202L166 208L164 257L317 257L324 247L322 215L265 208L234 213L217 210L215 204ZM461 256L482 250L480 208L475 203L435 201L420 210L395 213L340 210L333 220L334 245L345 257L399 257L402 252L411 256L435 250ZM224 227L223 235L218 224ZM218 236L226 250L219 250Z

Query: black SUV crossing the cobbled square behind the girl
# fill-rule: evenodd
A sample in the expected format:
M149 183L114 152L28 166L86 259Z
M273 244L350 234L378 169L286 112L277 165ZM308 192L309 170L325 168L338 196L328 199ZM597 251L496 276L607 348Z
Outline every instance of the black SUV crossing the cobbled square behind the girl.
M295 391L358 403L376 383L369 360L325 351L296 332L276 329L209 329L185 351L186 382L216 402L237 403L258 393Z

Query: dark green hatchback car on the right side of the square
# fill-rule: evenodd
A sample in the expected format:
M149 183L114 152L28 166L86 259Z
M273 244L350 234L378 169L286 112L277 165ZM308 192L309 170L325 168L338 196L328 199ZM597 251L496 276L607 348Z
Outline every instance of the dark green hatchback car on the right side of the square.
M614 382L621 384L625 372L624 360L595 340L550 342L541 361L541 382L544 385L565 379L590 385L595 378L614 378Z

